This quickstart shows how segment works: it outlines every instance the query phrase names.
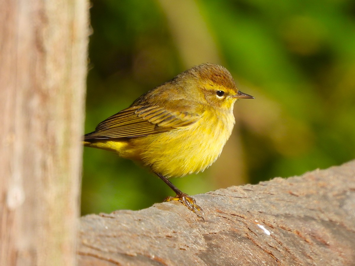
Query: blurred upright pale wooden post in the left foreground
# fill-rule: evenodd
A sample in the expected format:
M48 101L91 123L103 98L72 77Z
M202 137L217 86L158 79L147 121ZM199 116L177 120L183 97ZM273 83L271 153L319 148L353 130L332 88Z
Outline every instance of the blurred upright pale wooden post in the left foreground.
M88 1L0 0L0 265L75 265Z

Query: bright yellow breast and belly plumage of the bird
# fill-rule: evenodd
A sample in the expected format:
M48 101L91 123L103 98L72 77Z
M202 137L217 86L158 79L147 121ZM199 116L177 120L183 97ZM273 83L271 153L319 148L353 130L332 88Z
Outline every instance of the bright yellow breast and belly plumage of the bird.
M116 151L165 177L182 177L203 171L217 160L233 126L231 113L203 117L185 129L122 140L102 139L86 145Z

